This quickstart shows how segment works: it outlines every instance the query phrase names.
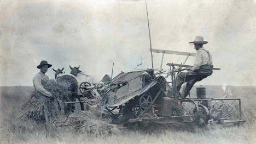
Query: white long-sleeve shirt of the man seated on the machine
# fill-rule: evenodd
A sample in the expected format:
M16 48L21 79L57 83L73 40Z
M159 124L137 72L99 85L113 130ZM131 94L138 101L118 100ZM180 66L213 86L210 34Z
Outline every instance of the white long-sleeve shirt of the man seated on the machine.
M212 65L212 54L205 48L201 47L196 52L196 58L194 66L191 68L192 71L199 70L200 66L202 65Z

